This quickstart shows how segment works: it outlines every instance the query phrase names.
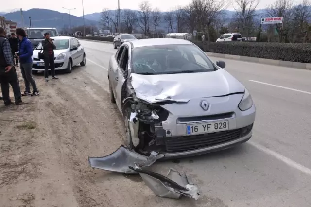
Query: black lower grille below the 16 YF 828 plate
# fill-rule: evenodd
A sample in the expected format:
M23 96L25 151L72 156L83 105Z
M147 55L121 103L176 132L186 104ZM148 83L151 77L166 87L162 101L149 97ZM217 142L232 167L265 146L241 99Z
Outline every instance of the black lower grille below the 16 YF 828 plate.
M240 138L241 131L242 129L234 129L203 135L167 137L165 147L167 152L182 152L210 147Z

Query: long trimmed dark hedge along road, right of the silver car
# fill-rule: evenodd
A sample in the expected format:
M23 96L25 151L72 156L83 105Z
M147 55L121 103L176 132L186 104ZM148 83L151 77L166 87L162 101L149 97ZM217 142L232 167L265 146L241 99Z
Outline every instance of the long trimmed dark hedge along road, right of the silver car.
M273 60L311 63L310 43L269 43L269 42L207 42L193 41L205 52L241 55Z

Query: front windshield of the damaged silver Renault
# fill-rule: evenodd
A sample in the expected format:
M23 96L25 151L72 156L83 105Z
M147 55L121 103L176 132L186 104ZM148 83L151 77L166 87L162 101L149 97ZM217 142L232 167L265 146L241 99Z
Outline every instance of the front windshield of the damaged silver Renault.
M132 49L132 69L138 74L211 72L217 68L195 45L157 45Z

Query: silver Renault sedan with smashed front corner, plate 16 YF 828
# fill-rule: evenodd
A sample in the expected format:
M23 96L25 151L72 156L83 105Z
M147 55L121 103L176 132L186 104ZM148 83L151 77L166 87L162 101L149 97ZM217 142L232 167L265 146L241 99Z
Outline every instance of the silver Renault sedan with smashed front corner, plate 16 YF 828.
M223 150L252 137L256 108L245 86L187 40L124 42L109 60L111 102L126 145L166 158Z

